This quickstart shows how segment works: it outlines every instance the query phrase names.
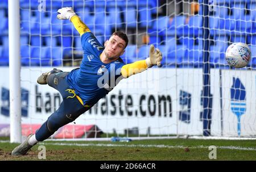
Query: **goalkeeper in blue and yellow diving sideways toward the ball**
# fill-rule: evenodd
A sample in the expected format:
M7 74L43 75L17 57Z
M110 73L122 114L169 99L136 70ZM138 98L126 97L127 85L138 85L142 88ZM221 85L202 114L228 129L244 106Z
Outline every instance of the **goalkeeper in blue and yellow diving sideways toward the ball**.
M159 66L162 60L162 53L151 45L150 57L146 60L124 64L119 56L125 52L128 44L125 33L114 32L103 47L71 7L64 7L57 12L58 19L69 19L80 33L83 59L80 68L71 72L53 69L38 78L39 84L48 84L58 90L63 102L34 135L30 134L13 150L13 156L25 155L38 141L48 139L57 129L84 114L98 100L105 97L122 78L143 72L153 65Z

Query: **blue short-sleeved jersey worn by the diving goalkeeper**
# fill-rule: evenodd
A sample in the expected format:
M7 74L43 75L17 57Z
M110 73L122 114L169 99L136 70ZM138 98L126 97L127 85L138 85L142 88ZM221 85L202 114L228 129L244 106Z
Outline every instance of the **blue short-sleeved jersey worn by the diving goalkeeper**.
M109 64L101 62L100 54L104 47L92 32L84 33L81 43L83 58L80 68L73 69L66 78L71 89L82 99L84 106L93 106L122 78L121 68L125 64L121 58Z

